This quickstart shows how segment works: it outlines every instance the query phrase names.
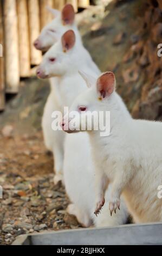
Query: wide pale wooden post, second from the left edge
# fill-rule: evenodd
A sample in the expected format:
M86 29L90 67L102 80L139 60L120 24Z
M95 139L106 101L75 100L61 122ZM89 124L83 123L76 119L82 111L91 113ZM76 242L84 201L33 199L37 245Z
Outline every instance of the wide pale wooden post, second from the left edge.
M5 82L7 93L17 93L20 82L16 0L4 3Z

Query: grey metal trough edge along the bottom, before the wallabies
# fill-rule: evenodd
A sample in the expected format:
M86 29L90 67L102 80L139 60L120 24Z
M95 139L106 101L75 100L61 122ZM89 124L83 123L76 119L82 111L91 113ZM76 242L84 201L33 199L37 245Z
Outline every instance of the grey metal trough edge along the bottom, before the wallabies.
M162 223L21 235L13 245L162 245Z

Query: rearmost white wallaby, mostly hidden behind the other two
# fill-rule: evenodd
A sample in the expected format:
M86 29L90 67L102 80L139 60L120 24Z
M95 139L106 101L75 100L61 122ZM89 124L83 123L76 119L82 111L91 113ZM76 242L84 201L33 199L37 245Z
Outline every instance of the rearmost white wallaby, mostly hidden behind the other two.
M82 46L82 40L80 33L77 29L75 22L75 12L72 4L66 4L62 11L48 8L48 10L54 15L55 19L51 21L47 26L42 29L40 36L35 40L34 45L37 50L46 51L53 46L61 36L68 31L73 29L79 45ZM82 58L87 58L87 63L99 74L99 69L94 64L93 60L89 58L89 54L85 54ZM53 152L54 155L54 169L55 178L54 182L57 184L63 179L63 154L64 154L64 133L60 131L51 130L51 114L54 111L62 111L64 105L61 99L59 80L57 77L50 78L50 94L44 107L44 113L42 118L42 130L44 136L44 143L46 148Z

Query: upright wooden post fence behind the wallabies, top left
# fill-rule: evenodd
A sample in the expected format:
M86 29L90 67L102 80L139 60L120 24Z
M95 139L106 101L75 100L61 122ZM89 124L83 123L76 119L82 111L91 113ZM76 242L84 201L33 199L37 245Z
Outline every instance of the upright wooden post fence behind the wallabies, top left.
M53 19L46 6L61 10L66 3L77 12L88 7L89 0L0 0L0 111L5 93L18 93L20 78L30 77L31 66L41 62L33 42Z

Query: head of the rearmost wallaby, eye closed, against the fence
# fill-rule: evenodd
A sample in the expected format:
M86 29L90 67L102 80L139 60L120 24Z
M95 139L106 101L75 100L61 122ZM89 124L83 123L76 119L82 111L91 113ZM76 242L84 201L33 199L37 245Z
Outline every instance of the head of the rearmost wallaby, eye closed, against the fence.
M34 42L35 48L41 51L47 51L69 29L77 31L75 11L72 4L66 4L62 11L49 7L47 10L53 14L54 20L42 29L40 36Z

